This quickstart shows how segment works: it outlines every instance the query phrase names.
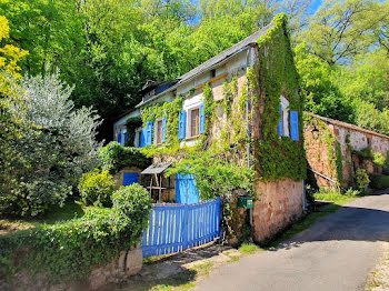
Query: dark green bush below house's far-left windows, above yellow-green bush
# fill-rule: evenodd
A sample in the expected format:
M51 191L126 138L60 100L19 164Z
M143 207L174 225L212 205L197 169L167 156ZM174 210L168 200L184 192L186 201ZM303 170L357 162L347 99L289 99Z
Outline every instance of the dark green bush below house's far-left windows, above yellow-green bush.
M101 168L114 174L124 167L147 168L151 160L139 149L123 147L117 141L111 141L106 147L99 149Z

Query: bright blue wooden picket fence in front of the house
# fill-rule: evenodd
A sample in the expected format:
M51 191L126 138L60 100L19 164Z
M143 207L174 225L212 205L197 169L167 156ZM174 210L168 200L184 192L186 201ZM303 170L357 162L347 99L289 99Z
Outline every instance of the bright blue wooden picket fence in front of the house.
M220 237L220 198L197 204L156 204L143 231L143 257L180 252Z

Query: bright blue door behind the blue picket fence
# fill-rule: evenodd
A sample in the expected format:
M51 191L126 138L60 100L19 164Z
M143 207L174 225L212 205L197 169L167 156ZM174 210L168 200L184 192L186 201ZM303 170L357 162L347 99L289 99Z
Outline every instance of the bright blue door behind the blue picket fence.
M193 204L199 202L199 190L191 174L176 174L176 203Z

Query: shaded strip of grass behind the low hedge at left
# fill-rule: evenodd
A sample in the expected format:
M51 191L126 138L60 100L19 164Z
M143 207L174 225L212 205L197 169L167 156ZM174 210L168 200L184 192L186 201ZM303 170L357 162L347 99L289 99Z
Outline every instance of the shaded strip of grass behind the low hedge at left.
M83 215L83 209L72 200L68 200L62 208L53 207L43 215L24 219L0 219L0 234L18 230L37 228L43 224L56 224Z

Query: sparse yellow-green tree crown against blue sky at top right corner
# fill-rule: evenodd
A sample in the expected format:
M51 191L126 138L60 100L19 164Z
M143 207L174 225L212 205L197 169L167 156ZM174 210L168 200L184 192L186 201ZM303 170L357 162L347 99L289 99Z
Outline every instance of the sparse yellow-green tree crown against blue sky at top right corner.
M298 40L330 66L347 63L377 42L387 4L373 0L327 0L309 19Z

